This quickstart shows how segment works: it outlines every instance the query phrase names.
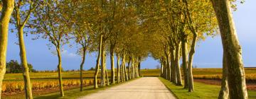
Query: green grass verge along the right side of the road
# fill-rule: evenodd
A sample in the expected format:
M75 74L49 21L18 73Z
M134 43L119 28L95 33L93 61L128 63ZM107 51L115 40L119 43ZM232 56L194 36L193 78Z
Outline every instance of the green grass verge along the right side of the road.
M176 86L161 77L159 77L159 79L179 99L216 99L218 98L218 93L220 91L220 86L194 82L195 91L193 93L189 93L188 89L184 89L183 86ZM248 91L248 95L250 99L256 99L256 91Z

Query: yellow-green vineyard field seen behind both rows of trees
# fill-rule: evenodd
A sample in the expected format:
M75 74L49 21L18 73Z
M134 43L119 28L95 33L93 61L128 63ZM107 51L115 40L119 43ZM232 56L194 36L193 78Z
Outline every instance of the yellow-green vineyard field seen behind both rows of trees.
M182 70L181 70L182 71ZM83 71L84 86L91 86L95 71ZM141 76L159 76L159 69L142 69ZM245 68L247 88L256 91L256 68ZM110 76L110 71L108 71ZM57 72L38 72L31 73L31 84L34 95L42 95L58 91ZM211 85L220 85L222 69L193 69L193 77L196 82ZM117 74L116 74L117 76ZM98 76L100 78L100 74ZM78 88L80 85L80 71L63 72L63 86L66 90ZM210 81L213 80L213 81ZM100 82L100 81L98 81ZM250 87L248 87L250 86ZM22 74L5 74L2 85L3 98L11 95L23 95L23 76Z

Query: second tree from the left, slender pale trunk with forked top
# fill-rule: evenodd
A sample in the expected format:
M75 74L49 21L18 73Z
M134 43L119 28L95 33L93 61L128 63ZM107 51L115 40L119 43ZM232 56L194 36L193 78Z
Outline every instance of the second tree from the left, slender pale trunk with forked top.
M23 6L29 6L29 8L24 8ZM25 42L23 40L23 28L28 22L31 13L36 8L36 4L33 1L17 1L14 4L14 21L15 26L18 30L18 45L20 47L20 57L21 57L21 66L23 66L23 78L24 78L24 88L26 98L33 98L32 89L31 89L31 81L29 76L29 68L26 59L26 47Z

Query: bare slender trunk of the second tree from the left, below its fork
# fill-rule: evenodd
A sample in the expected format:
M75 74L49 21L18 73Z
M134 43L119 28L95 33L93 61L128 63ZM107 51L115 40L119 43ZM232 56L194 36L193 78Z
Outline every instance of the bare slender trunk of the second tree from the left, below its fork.
M32 99L31 81L29 76L28 62L26 58L26 47L23 40L23 27L18 28L18 44L20 47L21 65L23 67L24 89L26 98Z

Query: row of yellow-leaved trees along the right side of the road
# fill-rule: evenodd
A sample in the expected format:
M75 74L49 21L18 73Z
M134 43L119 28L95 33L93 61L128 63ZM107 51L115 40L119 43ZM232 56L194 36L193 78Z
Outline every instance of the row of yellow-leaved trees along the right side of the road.
M192 64L196 42L220 35L223 42L223 81L219 98L247 98L241 47L232 18L233 1L143 1L144 25L156 44L150 52L161 62L161 76L193 92ZM148 32L146 31L146 32ZM150 33L149 32L149 33ZM157 48L157 49L156 49ZM189 51L188 51L189 50ZM228 57L227 57L228 56Z

